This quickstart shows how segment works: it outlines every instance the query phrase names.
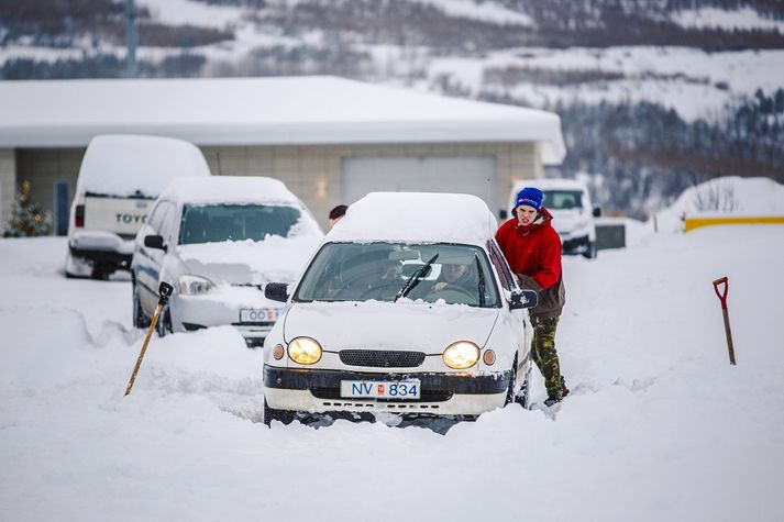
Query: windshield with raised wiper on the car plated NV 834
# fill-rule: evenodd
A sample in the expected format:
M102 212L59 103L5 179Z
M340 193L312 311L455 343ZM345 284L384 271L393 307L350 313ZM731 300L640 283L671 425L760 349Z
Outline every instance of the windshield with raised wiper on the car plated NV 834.
M328 243L313 258L294 299L421 299L485 308L500 302L484 251L444 243Z

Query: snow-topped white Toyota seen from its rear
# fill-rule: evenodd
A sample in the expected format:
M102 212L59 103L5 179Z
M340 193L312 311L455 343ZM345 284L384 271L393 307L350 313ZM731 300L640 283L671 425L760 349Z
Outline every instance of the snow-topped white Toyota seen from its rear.
M175 177L209 175L201 151L181 140L93 137L70 206L66 277L104 279L128 270L136 232L166 185Z

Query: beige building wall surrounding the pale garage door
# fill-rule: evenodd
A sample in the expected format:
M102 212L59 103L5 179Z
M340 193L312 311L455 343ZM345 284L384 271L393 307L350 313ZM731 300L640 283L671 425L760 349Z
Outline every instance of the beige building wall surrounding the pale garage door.
M494 210L506 209L515 182L542 176L534 143L378 144L201 147L212 174L280 179L325 226L331 208L343 203L341 173L349 157L495 156ZM449 188L445 187L444 190ZM508 210L508 209L507 209Z

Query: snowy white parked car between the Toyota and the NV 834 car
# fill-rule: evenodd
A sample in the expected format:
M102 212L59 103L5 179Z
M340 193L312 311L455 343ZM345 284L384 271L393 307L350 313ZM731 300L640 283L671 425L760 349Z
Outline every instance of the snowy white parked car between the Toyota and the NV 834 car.
M270 178L175 179L136 235L133 321L144 327L161 281L174 286L158 333L233 324L262 346L281 304L267 281L294 281L323 237L310 211Z

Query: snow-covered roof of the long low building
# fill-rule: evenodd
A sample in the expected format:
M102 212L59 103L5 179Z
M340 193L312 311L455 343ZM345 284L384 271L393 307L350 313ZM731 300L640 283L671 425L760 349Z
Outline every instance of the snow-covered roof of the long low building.
M541 142L565 155L546 111L336 77L0 82L0 146L84 146L96 134L198 145Z

